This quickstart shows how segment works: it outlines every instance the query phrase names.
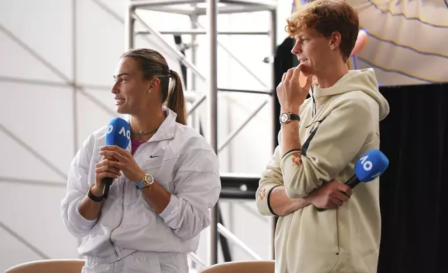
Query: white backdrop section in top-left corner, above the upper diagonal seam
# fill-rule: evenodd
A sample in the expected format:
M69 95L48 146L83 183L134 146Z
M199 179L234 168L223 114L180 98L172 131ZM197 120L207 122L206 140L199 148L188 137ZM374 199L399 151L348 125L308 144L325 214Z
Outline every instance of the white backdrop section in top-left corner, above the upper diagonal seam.
M0 24L72 79L72 1L8 1Z

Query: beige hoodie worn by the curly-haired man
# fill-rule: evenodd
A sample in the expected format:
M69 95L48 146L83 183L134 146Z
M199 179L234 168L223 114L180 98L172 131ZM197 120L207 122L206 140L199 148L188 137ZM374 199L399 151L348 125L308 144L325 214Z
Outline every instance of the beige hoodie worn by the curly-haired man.
M275 148L262 173L257 208L273 215L268 199L284 185L290 198L307 196L322 182L346 182L360 156L378 149L379 121L389 104L378 91L373 69L353 70L330 88L313 86L300 109L300 153ZM279 134L279 143L281 132ZM296 153L296 155L294 155ZM301 162L296 164L298 158ZM376 272L381 235L379 178L361 183L337 210L313 205L280 217L275 233L276 273Z

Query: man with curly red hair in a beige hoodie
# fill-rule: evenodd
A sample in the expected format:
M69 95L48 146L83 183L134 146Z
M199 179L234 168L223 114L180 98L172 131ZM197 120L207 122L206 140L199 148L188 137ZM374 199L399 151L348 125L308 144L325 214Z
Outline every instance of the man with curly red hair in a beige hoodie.
M374 70L347 65L358 15L345 1L312 1L286 30L300 65L277 87L280 145L257 190L259 212L280 216L275 272L376 272L379 179L353 192L344 185L360 156L379 148L379 122L389 114Z

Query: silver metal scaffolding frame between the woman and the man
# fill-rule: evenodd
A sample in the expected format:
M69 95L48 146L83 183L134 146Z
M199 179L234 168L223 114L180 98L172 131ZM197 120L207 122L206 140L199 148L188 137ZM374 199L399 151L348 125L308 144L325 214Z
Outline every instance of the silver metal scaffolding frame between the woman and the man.
M249 121L259 112L266 104L270 102L272 120L271 120L271 132L273 132L273 139L271 143L271 150L273 151L275 148L275 140L277 138L275 132L275 124L278 122L277 118L275 118L275 80L274 80L274 68L273 63L271 63L271 86L266 86L261 79L259 79L253 72L251 72L241 61L239 61L236 57L234 57L227 49L225 49L218 42L218 35L268 35L270 38L270 52L271 56L275 55L276 49L276 1L262 1L262 0L129 0L129 6L126 10L125 15L125 47L126 49L134 48L135 38L136 36L142 36L150 34L151 37L156 38L159 42L162 42L163 45L166 45L166 48L177 58L177 60L185 65L186 68L189 69L189 75L191 81L191 88L195 90L195 80L196 77L205 81L208 86L207 95L203 95L200 98L197 98L191 109L189 114L191 114L198 106L205 100L208 102L207 112L209 113L209 134L206 139L211 144L211 147L214 148L216 154L220 152L232 139L245 127ZM187 15L191 19L191 30L187 31L164 31L159 32L156 29L153 29L151 26L146 24L144 20L136 14L136 10L144 9L144 10L154 10L165 13L177 13L181 15ZM259 12L259 11L267 11L270 14L270 27L269 31L262 32L241 32L241 31L225 31L221 32L217 30L217 17L219 14L232 14L232 13L251 13L251 12ZM208 17L208 27L199 29L201 27L198 24L198 16L207 15ZM139 22L144 28L145 31L135 31L135 23ZM176 34L176 35L191 35L191 42L194 44L195 38L198 35L207 35L208 43L209 43L209 78L207 79L204 75L200 73L198 68L195 66L196 61L196 49L195 47L191 47L191 60L188 60L182 52L179 52L178 49L172 47L166 40L164 40L162 34ZM225 49L225 51L232 56L243 68L245 68L250 75L252 75L257 81L266 86L265 90L254 91L254 90L237 90L237 89L229 89L229 88L218 88L217 84L217 47L220 45ZM225 141L218 146L217 141L217 120L218 120L218 112L217 112L217 94L220 92L240 92L240 93L254 93L254 94L262 94L269 95L269 100L266 100L262 104L257 107L257 109L243 120L243 123L232 132ZM252 180L251 180L252 179ZM225 182L236 182L236 183L252 183L259 178L257 177L246 177L237 174L227 174L225 176L221 175L221 182L223 187L225 187ZM229 194L225 194L225 192L221 192L221 198L225 198L225 196L230 196ZM253 192L249 192L246 194L246 198L250 196L254 196ZM234 197L235 198L235 197ZM238 198L238 197L237 197ZM243 197L244 198L244 197ZM273 237L275 233L275 219L271 217L270 221L270 257L273 256ZM250 250L243 242L238 240L236 236L234 236L230 231L228 231L223 225L218 224L218 204L215 205L213 209L211 209L211 225L210 225L210 237L208 242L209 247L209 257L208 257L208 265L213 265L218 263L218 233L224 235L227 239L231 240L235 244L239 245L244 251L250 254L255 259L261 259L257 254ZM197 256L193 257L193 260L196 263L202 263L198 260ZM203 264L203 263L202 263Z

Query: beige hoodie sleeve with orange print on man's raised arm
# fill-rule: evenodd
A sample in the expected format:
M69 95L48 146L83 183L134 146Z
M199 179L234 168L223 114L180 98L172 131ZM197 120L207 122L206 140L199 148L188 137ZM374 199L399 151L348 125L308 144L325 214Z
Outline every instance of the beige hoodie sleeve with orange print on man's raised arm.
M301 139L303 151L291 151L280 159L289 198L307 196L323 181L334 179L360 153L368 135L376 132L378 107L364 97L346 96L335 104L310 134L309 146L305 148Z

